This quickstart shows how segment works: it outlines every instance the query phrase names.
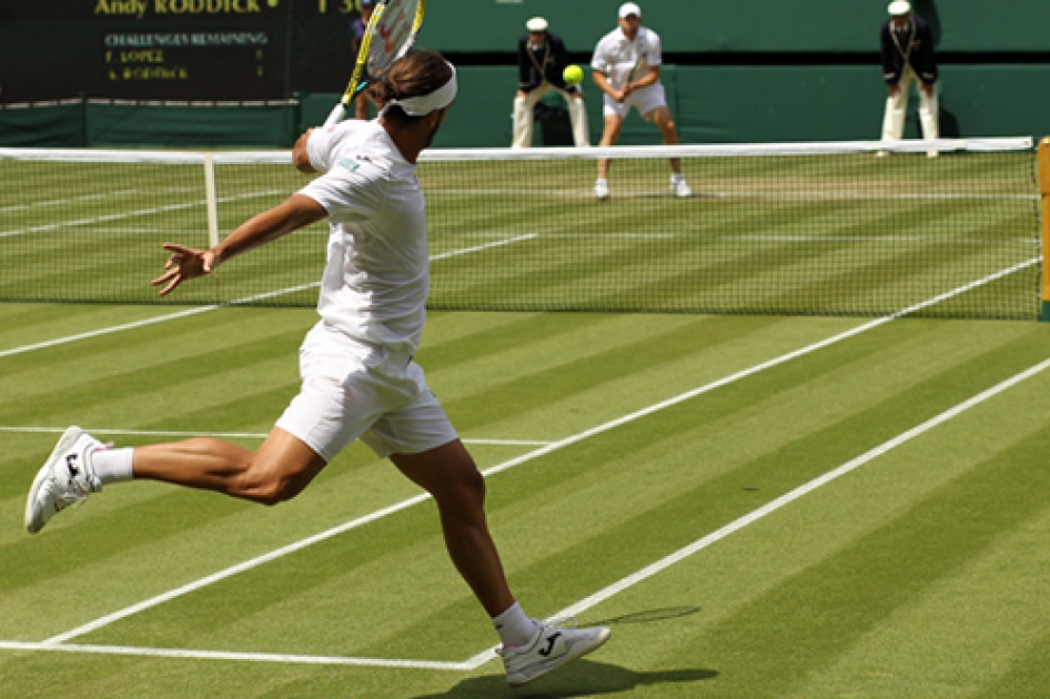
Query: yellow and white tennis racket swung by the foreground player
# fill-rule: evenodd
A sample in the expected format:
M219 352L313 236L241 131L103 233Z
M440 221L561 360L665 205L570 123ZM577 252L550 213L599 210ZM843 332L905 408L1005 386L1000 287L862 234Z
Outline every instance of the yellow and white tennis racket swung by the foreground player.
M423 26L425 10L426 0L380 0L376 3L361 38L354 72L343 97L324 120L325 126L343 121L357 93L370 81L382 78L394 61L408 52Z

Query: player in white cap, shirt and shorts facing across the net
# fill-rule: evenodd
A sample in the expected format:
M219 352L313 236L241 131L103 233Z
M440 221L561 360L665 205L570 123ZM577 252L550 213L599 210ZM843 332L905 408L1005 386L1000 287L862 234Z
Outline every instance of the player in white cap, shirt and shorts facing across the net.
M602 37L594 49L590 67L594 84L605 93L603 115L605 129L599 146L615 145L630 108L637 108L646 121L653 121L664 136L665 144L678 143L678 131L667 108L664 85L660 84L660 38L642 26L642 8L625 2L619 8L619 27ZM682 174L682 161L670 159L670 188L676 196L690 196L693 191ZM594 195L609 196L609 161L598 161L598 179Z

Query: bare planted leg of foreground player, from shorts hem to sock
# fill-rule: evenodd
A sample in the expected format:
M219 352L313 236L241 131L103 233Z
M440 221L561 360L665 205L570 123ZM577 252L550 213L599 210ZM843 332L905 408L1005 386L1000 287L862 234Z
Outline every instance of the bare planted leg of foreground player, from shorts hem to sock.
M410 480L434 496L445 547L478 601L496 617L514 605L485 517L485 478L458 439L421 454L393 454Z

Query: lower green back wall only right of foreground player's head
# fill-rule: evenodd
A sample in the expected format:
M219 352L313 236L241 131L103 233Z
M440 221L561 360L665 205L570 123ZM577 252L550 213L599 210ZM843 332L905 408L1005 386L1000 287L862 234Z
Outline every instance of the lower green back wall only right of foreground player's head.
M435 145L508 145L515 70L463 72L460 98ZM590 141L597 144L602 95L587 73L584 100ZM685 143L878 140L881 131L886 87L878 67L667 65L662 78ZM946 138L1050 133L1050 65L947 65L939 89ZM918 99L912 98L906 138L919 136ZM537 122L534 145L571 145L564 101L556 93L544 101L554 109ZM545 129L545 120L562 125ZM632 111L619 144L659 142L656 126Z

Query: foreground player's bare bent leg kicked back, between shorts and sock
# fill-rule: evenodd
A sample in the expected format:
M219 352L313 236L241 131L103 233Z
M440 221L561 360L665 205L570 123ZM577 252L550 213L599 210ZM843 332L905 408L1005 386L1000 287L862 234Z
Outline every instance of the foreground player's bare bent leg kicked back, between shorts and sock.
M210 437L134 450L135 478L215 490L263 505L295 497L324 466L321 456L280 427L258 452Z

